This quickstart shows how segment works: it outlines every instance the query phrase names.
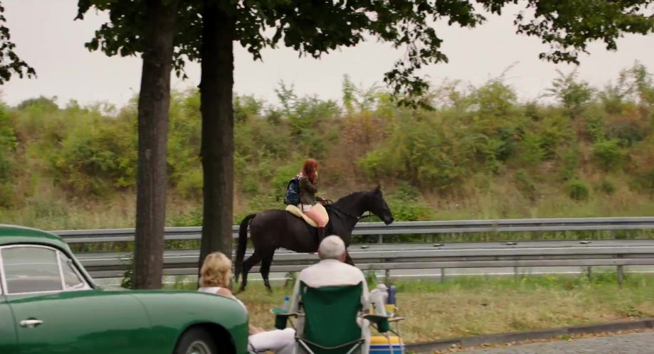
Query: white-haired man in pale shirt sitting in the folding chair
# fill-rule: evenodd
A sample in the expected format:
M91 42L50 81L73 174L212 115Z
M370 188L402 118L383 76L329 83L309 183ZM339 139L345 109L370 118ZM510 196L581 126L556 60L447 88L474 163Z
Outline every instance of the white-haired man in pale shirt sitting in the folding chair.
M297 281L295 282L295 288L293 289L290 312L297 313L300 311L299 301L297 301L297 299L300 296L300 281L302 281L312 288L320 288L321 286L356 285L362 283L363 296L361 304L364 313L369 313L370 299L366 278L361 269L344 263L346 254L343 240L336 235L325 237L325 239L320 242L320 247L318 248L320 262L313 264L300 272L300 275L297 277ZM374 306L377 313L381 313L382 315L385 314L384 304L381 299L375 299ZM366 339L364 345L364 348L366 349L364 350L364 353L366 353L370 344L369 321L359 318L358 324L359 327L363 326ZM302 328L302 326L304 326L304 323L301 322L301 318L298 318L297 328Z

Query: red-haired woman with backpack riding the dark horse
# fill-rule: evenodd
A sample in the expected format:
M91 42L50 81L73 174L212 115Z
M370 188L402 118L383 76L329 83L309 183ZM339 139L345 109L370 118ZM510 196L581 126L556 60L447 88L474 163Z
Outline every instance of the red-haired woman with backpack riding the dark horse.
M317 201L324 199L317 197L318 161L307 159L300 170L300 208L318 225L318 242L325 238L325 226L329 221L327 210Z

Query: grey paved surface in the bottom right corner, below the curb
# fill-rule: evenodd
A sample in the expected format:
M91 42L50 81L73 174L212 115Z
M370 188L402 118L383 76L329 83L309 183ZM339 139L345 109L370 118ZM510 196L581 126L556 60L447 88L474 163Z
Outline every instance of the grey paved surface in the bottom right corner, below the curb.
M465 350L468 354L541 354L541 353L594 353L594 354L648 354L654 353L654 332L632 333L618 336L581 338L554 342L512 345L510 347Z

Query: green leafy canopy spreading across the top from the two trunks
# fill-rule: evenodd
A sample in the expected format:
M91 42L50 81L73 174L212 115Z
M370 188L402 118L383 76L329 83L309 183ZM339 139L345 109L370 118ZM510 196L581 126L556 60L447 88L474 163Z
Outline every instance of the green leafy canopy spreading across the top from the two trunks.
M647 34L653 31L652 0L529 0L515 16L517 33L537 36L549 45L539 58L554 63L579 63L591 41L603 41L608 50L617 48L624 33ZM433 24L475 27L488 14L517 0L357 0L357 1L218 1L235 18L235 41L247 48L253 58L261 59L263 48L283 44L300 55L320 58L341 46L353 46L374 38L405 48L384 75L384 82L403 104L419 104L428 83L419 75L425 65L448 62L441 50L443 39ZM142 53L144 37L144 1L80 0L78 18L91 8L110 11L86 46L107 55ZM201 43L201 1L186 1L179 10L174 38L174 68L184 75L184 60L199 60ZM367 38L366 38L367 37ZM424 103L424 102L422 102Z

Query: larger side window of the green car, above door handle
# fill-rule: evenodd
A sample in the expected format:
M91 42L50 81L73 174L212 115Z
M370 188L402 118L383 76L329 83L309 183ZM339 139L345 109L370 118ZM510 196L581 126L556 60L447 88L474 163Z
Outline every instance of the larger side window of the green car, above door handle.
M7 294L63 290L55 250L8 247L1 255Z

